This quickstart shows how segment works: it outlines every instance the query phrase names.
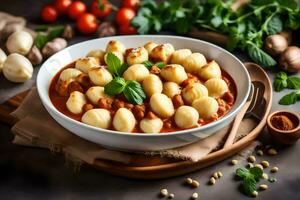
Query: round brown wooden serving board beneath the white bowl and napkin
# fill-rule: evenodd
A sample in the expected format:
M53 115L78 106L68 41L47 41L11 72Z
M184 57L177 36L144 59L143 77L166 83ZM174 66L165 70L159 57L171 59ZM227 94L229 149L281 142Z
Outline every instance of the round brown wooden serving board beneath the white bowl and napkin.
M102 171L135 179L159 179L178 175L183 175L189 172L199 170L203 167L215 164L222 161L242 149L246 148L259 135L265 126L267 116L272 105L272 86L265 71L254 63L246 63L247 70L252 81L260 81L265 86L264 100L265 110L262 120L257 124L247 136L241 138L236 143L228 148L214 151L198 162L178 161L169 158L161 158L160 156L144 156L135 155L129 165L112 162L108 160L96 160L93 166ZM9 115L22 102L27 92L23 92L6 103L0 105L0 121L13 125L16 120Z

